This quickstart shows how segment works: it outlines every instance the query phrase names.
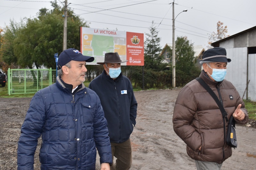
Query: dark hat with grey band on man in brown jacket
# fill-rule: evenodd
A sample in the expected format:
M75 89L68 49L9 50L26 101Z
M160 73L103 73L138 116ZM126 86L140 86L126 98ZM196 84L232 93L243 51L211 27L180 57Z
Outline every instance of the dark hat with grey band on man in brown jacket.
M221 63L229 63L231 59L227 58L227 52L225 48L215 47L208 49L204 52L203 60L199 63L208 63L208 62L221 62Z

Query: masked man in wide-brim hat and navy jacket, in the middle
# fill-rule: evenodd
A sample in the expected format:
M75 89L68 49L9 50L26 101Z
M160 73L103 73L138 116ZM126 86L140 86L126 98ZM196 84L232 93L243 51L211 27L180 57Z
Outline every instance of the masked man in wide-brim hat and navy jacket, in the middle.
M130 135L136 124L137 101L130 80L121 73L121 61L118 53L106 53L101 75L93 79L89 88L100 97L112 149L112 159L116 162L111 170L128 170L132 165L132 147Z

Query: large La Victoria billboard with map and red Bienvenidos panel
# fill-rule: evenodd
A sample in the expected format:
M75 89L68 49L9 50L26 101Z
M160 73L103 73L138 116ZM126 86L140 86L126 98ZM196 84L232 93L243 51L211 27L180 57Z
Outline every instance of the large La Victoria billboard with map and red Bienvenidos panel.
M144 65L144 34L125 31L80 27L81 53L93 56L96 65L104 62L105 53L118 52L122 65Z

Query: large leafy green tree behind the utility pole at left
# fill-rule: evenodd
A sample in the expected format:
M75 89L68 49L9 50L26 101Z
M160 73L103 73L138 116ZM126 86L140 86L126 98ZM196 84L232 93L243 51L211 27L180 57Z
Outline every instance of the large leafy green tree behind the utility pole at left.
M38 17L27 19L20 29L13 26L7 29L3 35L4 44L6 47L11 44L11 48L1 47L1 50L12 57L3 58L5 62L17 62L23 68L56 67L53 55L62 52L63 8L57 5L56 0L52 2L52 7L51 11L40 9ZM69 9L67 25L67 47L80 49L80 27L87 26L86 22Z

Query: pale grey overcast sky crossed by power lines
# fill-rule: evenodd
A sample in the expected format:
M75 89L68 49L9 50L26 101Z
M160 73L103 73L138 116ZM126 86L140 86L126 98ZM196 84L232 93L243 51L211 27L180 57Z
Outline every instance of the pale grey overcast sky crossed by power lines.
M64 5L63 2L57 0L60 5ZM162 38L161 47L164 47L166 43L172 43L172 2L68 0L68 8L73 9L84 21L90 22L91 28L144 33L144 41L154 21L158 36ZM175 0L175 39L177 36L187 36L194 45L206 47L208 34L217 31L218 21L228 26L228 35L256 26L255 7L255 0ZM50 1L0 0L0 27L8 26L10 20L20 22L22 18L35 18L41 8L51 9ZM185 9L188 11L182 12Z

